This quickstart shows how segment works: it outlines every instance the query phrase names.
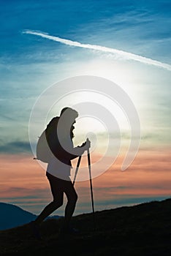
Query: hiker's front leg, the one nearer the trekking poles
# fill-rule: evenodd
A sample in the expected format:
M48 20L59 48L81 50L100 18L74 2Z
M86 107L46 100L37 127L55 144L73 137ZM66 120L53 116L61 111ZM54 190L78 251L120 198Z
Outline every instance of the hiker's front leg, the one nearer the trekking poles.
M65 208L65 217L64 217L64 225L69 227L69 222L72 218L72 214L75 211L75 206L77 203L77 193L75 192L75 188L72 184L72 181L65 181L66 186L64 188L64 193L67 197L67 203Z

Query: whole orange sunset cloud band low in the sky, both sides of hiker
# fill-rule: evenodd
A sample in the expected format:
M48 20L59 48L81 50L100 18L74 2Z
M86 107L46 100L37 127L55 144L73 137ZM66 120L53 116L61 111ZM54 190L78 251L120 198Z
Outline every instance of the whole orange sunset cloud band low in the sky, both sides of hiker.
M129 204L141 198L170 197L170 153L168 148L163 151L139 151L132 165L125 171L121 171L123 156L118 157L109 170L93 179L97 208L102 209L106 205L112 208L115 204L118 206L119 202L120 205ZM99 156L91 159L91 162L96 162L96 159ZM83 165L86 165L86 160L83 159ZM45 170L32 156L1 155L0 171L1 201L15 203L38 213L52 199ZM91 171L94 172L93 166ZM75 184L79 195L77 212L88 211L90 207L89 186L89 181Z

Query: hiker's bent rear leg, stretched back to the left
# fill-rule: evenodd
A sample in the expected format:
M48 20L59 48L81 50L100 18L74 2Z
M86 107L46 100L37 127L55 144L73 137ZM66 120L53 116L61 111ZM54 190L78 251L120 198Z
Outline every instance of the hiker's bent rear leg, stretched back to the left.
M43 220L48 217L53 211L56 211L57 208L63 205L64 200L64 192L61 188L61 180L56 178L55 176L50 175L47 173L48 181L50 182L50 189L53 195L53 201L49 203L39 214L37 219L35 219L36 224L40 224Z

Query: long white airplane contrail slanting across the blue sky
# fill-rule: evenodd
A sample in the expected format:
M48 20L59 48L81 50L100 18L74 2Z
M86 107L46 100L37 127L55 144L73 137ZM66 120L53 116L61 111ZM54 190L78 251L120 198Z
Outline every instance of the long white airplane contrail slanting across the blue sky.
M64 39L64 38L61 38L61 37L53 37L53 36L50 36L49 34L46 34L44 32L26 30L26 31L23 31L23 34L34 34L34 35L37 35L39 37L44 37L44 38L47 38L47 39L50 39L50 40L53 40L53 41L56 41L56 42L61 42L64 45L71 45L71 46L80 47L80 48L98 50L98 51L102 51L104 53L113 53L116 56L122 56L124 59L132 59L134 61L139 61L139 62L144 63L144 64L150 64L150 65L153 65L153 66L156 66L156 67L162 67L164 69L167 69L167 70L171 71L171 65L170 64L166 64L166 63L163 63L163 62L160 62L160 61L149 59L149 58L146 58L146 57L134 54L134 53L128 53L128 52L123 51L123 50L118 50L118 49L115 49L115 48L107 48L107 47L104 47L104 46L101 46L101 45L82 44L80 42L72 41L72 40L69 40L69 39Z

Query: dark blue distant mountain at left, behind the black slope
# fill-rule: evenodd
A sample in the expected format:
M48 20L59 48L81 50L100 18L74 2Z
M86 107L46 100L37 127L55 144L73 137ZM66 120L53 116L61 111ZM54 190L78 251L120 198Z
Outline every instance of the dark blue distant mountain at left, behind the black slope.
M18 227L33 221L37 215L9 203L0 203L0 230ZM58 216L50 217L58 218Z

